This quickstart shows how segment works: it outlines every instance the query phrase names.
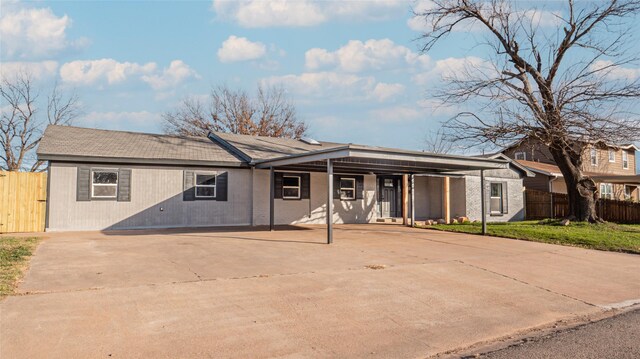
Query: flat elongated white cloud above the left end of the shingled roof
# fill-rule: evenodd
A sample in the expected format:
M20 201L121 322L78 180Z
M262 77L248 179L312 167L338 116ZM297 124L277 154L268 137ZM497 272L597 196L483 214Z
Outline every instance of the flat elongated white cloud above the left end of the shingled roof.
M154 62L141 65L135 62L118 62L114 59L78 60L62 65L60 77L64 82L76 85L92 85L103 81L112 85L131 76L153 73L156 67Z

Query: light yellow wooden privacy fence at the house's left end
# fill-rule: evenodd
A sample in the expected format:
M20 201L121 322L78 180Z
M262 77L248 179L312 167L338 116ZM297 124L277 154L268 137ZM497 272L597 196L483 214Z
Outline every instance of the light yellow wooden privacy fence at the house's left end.
M42 232L47 174L0 171L0 233Z

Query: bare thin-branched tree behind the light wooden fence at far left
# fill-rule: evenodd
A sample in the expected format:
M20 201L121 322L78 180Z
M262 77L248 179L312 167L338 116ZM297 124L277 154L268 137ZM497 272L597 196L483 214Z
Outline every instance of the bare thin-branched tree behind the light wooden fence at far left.
M0 83L0 169L39 171L43 162L35 157L46 124L68 125L80 113L78 97L64 96L57 84L39 101L39 91L28 72L3 77ZM45 117L40 116L44 107Z

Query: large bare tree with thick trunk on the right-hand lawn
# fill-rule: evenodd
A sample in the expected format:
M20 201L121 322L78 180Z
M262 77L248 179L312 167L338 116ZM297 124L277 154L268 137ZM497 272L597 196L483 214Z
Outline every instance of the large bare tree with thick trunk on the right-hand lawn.
M498 146L540 141L567 184L568 217L595 222L597 189L582 169L585 149L640 136L631 112L640 82L624 76L638 63L631 26L640 1L565 1L553 3L560 11L542 11L507 0L434 0L416 15L428 24L423 51L465 23L486 35L491 60L447 78L436 94L449 104L473 100L478 108L452 119L448 136ZM541 19L555 26L542 27Z

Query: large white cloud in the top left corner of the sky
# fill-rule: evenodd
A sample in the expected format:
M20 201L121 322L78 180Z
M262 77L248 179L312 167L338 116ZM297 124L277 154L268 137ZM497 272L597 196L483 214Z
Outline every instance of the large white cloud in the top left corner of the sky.
M67 15L56 16L50 8L5 8L0 17L2 55L21 59L46 57L69 47L86 45L88 40L84 38L67 39L70 26Z

